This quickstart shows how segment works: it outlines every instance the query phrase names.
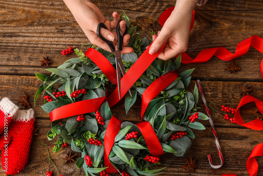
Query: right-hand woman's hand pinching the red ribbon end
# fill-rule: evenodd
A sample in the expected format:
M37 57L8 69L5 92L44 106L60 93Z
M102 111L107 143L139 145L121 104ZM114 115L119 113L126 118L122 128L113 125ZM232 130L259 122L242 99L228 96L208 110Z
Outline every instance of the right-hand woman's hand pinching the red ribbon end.
M176 1L173 12L158 32L158 36L153 36L150 54L156 53L166 40L164 50L157 56L159 59L168 60L187 50L193 9L197 2L196 0Z

